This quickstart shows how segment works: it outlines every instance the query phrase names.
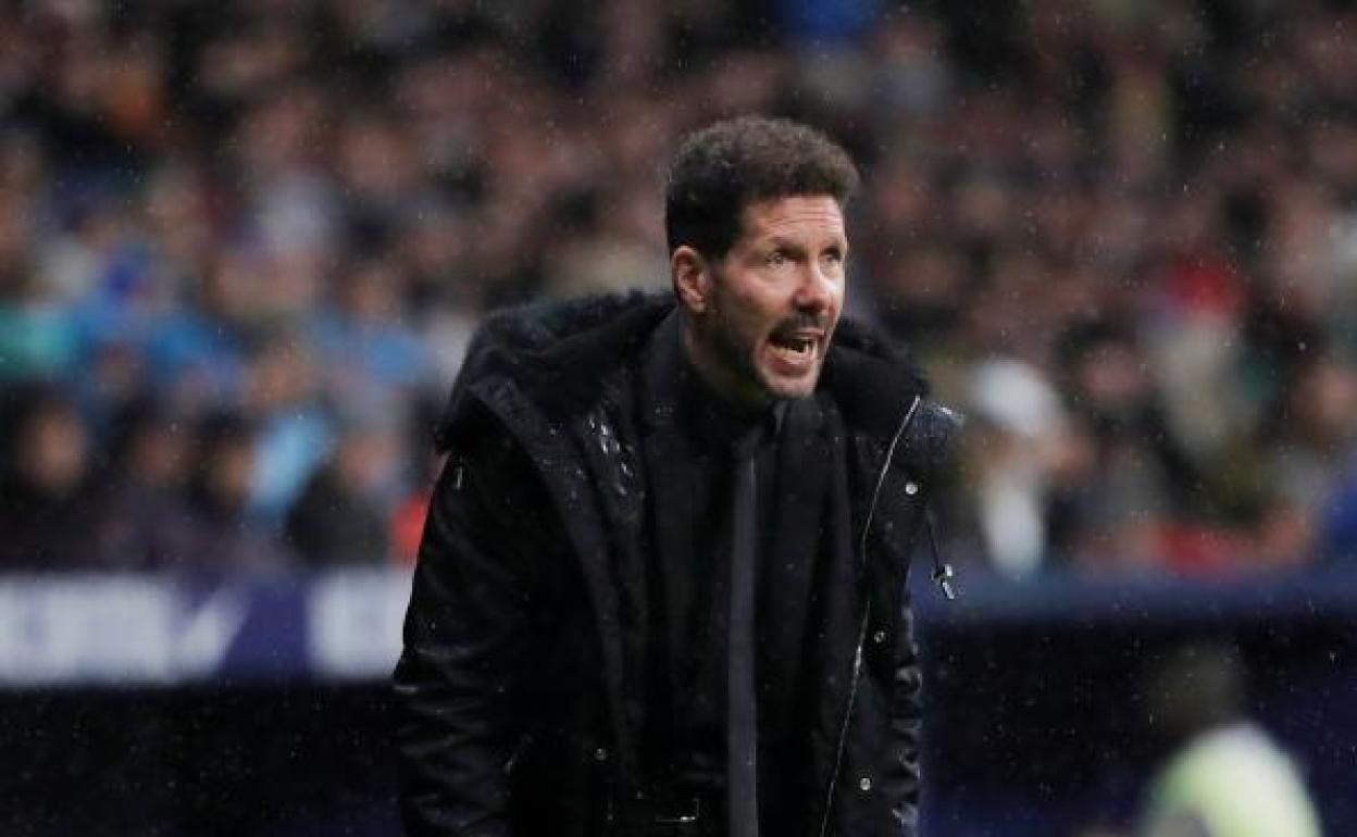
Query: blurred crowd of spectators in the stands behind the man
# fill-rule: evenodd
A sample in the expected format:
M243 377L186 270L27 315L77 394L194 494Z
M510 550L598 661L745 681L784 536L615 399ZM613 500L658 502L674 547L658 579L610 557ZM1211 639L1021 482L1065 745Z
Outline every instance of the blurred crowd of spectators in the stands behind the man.
M0 5L0 570L410 562L491 308L665 289L662 166L864 170L849 312L1008 577L1357 553L1352 0Z

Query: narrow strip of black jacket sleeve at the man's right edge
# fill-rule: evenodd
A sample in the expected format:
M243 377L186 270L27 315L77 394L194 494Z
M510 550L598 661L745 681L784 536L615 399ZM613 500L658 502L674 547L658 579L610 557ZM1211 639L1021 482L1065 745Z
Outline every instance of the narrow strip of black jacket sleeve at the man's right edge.
M915 619L905 594L896 640L894 680L890 695L890 758L885 776L890 792L892 815L897 834L919 833L919 747L923 727L919 646L915 642Z

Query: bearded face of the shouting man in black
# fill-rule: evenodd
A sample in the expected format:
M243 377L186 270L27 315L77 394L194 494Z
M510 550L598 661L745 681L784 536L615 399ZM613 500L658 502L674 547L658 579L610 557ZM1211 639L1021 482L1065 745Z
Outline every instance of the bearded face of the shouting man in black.
M741 402L806 397L844 301L848 240L829 195L745 208L741 237L707 262L697 305L688 294L689 354L710 384Z

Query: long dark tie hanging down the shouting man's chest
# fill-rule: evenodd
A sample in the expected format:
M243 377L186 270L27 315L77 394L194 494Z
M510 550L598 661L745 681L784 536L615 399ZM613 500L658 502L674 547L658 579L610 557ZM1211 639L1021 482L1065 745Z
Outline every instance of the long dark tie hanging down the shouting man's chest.
M754 703L754 568L759 556L759 433L734 452L730 533L727 762L730 837L759 834L759 715Z

